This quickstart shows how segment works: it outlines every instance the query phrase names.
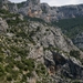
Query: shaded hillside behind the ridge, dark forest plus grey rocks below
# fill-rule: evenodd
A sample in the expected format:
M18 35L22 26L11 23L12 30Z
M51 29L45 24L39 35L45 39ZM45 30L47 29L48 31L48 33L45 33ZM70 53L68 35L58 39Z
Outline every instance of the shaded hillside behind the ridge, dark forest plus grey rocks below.
M60 27L63 33L72 39L75 45L77 45L80 49L83 49L83 17L59 20L52 22L52 24Z

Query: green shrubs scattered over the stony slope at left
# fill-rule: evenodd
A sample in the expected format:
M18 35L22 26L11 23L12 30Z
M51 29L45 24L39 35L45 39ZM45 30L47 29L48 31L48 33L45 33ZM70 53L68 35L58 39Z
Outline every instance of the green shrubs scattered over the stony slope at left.
M32 40L33 31L28 30L29 22L21 21L19 14L7 10L0 11L0 17L9 25L7 30L9 34L0 34L0 83L28 83L28 79L33 76L35 70L41 71L39 74L44 76L46 73L44 65L37 68L39 64L35 65L35 60L28 58L31 49L29 44L35 44ZM40 28L37 29L39 30Z

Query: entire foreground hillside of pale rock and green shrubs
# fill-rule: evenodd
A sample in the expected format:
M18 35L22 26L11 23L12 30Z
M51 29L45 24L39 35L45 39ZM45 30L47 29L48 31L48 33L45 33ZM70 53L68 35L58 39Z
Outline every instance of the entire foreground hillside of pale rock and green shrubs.
M13 14L3 18L8 23L0 19L1 83L8 82L10 75L11 83L71 83L74 80L83 83L81 58L71 56L70 51L79 51L82 56L83 53L58 27Z

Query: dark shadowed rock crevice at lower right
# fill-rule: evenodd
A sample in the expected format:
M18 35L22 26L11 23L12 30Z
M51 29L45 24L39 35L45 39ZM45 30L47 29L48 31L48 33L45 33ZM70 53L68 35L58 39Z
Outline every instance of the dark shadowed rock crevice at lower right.
M74 61L72 61L73 58L65 58L62 54L53 51L52 55L53 61L51 59L44 59L45 65L50 69L51 75L60 72L60 74L62 74L63 76L72 80L83 79L83 66L74 63Z

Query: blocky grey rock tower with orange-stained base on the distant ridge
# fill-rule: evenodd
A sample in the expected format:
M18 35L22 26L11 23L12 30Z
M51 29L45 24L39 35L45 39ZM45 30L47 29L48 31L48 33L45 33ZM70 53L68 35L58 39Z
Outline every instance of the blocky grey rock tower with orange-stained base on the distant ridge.
M40 18L42 12L40 8L40 0L27 0L24 8L19 9L19 12L32 18Z

